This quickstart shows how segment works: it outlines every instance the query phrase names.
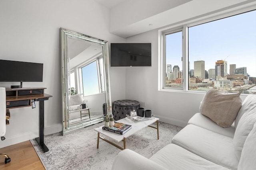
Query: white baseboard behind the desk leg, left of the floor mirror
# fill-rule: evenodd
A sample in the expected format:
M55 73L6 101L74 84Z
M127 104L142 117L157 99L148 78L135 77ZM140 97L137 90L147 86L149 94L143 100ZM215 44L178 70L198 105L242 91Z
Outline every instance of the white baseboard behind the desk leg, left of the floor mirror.
M62 124L54 125L51 127L44 128L44 135L50 135L52 133L57 133L62 131ZM13 137L6 138L4 141L0 141L0 148L8 147L17 143L28 141L30 139L35 139L38 137L38 130L30 133L23 133L21 135L16 135Z

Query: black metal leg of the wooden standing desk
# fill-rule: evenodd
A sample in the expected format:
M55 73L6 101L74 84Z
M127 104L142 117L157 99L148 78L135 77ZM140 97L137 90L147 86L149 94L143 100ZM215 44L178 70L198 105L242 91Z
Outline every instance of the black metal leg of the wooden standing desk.
M44 100L39 101L39 137L36 141L44 152L48 152L49 149L44 144Z

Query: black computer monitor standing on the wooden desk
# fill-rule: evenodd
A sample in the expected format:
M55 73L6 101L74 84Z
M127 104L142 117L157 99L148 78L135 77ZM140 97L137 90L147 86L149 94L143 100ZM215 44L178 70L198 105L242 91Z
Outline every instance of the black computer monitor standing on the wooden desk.
M0 82L42 82L43 64L0 60Z

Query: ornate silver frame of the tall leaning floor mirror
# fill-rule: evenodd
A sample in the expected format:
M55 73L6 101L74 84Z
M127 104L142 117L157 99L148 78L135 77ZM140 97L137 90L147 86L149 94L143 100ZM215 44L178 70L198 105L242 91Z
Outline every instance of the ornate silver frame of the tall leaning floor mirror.
M75 31L70 31L68 29L60 28L60 41L61 41L61 63L62 63L62 120L63 120L63 135L70 134L77 131L83 127L88 127L104 121L102 116L98 119L92 121L81 122L73 126L69 126L68 114L69 114L69 86L68 86L68 36L75 37L76 39L82 39L94 45L102 46L103 64L104 64L104 82L105 82L105 102L106 102L106 114L112 113L111 104L111 93L110 93L110 71L109 71L109 53L108 53L108 41L104 41L95 37L84 35L82 33L77 33Z

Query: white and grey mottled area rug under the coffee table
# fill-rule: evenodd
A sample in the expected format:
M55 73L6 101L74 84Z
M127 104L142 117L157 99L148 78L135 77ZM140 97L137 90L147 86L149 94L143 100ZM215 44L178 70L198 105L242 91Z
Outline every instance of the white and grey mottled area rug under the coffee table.
M93 129L102 125L103 123L86 127L65 136L62 133L46 135L44 143L49 151L45 153L35 139L31 142L46 170L111 170L114 158L121 150L101 139L99 149L96 148L97 132ZM156 129L146 127L126 139L126 148L150 158L171 143L172 137L181 129L176 125L159 122L159 140Z

